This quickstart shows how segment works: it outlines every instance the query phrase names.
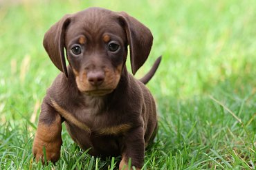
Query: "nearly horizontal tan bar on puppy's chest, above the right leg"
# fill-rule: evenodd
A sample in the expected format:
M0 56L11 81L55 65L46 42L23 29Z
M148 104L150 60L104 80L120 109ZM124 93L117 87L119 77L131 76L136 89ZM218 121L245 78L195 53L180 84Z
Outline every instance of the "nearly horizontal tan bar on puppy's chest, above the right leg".
M123 134L131 129L131 125L129 124L122 124L122 125L116 125L113 127L106 127L99 129L97 131L98 134L100 135L118 135L118 134Z

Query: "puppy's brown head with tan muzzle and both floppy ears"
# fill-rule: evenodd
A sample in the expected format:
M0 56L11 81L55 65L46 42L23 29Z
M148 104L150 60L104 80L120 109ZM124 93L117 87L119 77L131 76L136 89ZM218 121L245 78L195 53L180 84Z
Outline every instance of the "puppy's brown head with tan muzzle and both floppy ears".
M55 23L44 36L44 48L68 78L66 50L80 92L102 96L117 87L127 46L135 74L147 60L152 41L149 29L125 12L88 8Z

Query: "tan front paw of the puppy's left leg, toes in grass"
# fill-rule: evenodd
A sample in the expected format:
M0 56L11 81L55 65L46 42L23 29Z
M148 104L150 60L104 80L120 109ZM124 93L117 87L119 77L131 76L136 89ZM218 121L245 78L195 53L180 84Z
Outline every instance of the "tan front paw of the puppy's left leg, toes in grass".
M33 144L33 154L36 162L42 161L43 164L45 163L43 148L45 148L46 151L46 161L57 162L57 160L60 159L61 145L61 139L46 141L43 138L36 136Z

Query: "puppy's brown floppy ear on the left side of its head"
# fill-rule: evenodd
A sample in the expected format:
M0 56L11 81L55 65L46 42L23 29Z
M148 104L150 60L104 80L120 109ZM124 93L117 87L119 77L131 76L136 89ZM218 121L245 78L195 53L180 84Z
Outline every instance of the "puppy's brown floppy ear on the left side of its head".
M44 34L44 49L48 53L54 65L68 77L64 54L64 34L68 24L71 22L71 15L65 15L60 21L55 23Z

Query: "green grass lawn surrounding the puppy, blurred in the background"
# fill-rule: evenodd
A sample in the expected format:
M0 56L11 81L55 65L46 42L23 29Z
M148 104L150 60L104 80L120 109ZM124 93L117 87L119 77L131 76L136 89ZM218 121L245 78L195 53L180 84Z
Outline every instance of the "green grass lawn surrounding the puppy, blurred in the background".
M159 131L143 169L256 169L256 2L0 2L0 169L116 169L62 132L62 157L36 164L31 152L40 103L59 71L42 47L64 14L89 6L124 10L147 25L154 47L141 77L163 54L147 87Z

